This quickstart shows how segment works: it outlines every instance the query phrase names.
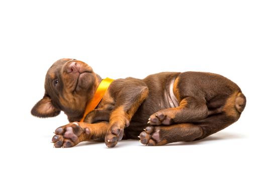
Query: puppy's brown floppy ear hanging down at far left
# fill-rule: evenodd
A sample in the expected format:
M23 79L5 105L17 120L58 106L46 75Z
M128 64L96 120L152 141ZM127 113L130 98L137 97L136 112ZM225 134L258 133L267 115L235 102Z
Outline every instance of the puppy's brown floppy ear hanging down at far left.
M36 103L31 110L31 114L36 117L55 117L59 113L60 110L52 105L52 100L47 95L44 95L43 99Z

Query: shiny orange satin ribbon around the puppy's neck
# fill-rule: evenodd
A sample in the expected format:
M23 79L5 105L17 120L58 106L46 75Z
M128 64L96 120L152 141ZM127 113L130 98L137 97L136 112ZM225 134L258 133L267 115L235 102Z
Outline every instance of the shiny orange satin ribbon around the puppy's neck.
M108 90L108 87L110 86L110 84L112 83L114 79L111 78L105 78L101 81L101 83L99 84L97 91L92 99L92 101L90 101L86 108L85 108L85 112L84 115L82 117L82 119L80 120L80 122L84 122L87 114L89 114L89 112L93 111L99 104L99 102L102 100L102 98L104 97L106 91Z

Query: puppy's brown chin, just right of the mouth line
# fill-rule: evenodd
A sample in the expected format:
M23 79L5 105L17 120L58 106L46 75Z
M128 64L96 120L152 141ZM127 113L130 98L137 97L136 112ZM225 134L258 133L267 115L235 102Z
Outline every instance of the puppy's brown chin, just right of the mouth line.
M78 76L77 85L75 91L77 93L86 92L90 90L90 86L93 82L93 76L90 72L83 72Z

